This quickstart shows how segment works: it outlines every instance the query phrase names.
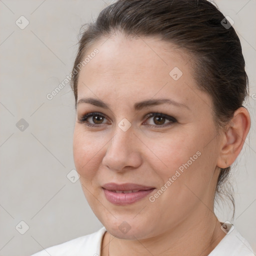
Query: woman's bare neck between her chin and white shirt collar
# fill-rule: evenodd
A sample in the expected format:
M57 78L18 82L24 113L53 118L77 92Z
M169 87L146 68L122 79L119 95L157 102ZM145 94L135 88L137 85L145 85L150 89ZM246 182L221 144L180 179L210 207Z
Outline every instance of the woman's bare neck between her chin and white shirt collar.
M176 227L155 237L140 240L119 239L108 232L103 237L102 256L128 255L208 255L225 233L220 229L216 216L206 210L203 216L185 219ZM109 242L110 241L110 242ZM108 254L109 250L109 254Z

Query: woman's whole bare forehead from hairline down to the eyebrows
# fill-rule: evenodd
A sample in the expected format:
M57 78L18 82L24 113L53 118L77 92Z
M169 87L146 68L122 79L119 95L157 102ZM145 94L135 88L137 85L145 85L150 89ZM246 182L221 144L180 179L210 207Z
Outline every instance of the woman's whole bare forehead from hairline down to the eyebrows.
M88 56L95 49L97 54ZM153 37L112 35L94 43L86 56L90 60L79 74L78 99L93 94L132 101L154 95L184 101L198 97L191 93L198 90L191 56L169 42Z

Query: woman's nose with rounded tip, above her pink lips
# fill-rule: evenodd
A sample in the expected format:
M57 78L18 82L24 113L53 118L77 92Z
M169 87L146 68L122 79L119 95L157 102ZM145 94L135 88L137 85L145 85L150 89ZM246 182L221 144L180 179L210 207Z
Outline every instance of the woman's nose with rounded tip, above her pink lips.
M117 172L139 167L142 163L139 142L141 143L132 127L123 131L116 126L114 136L108 142L102 159L103 166Z

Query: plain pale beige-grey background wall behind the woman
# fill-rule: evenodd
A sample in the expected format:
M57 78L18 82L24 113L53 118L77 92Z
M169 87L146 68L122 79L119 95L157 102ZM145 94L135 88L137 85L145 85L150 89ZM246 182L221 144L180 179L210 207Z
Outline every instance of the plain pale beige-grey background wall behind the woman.
M101 227L79 181L72 183L66 177L74 168L72 91L67 84L51 100L46 94L70 73L80 26L109 3L107 0L0 0L1 256L29 255ZM256 1L217 0L216 3L224 15L234 20L250 80L246 105L252 127L233 168L236 201L233 223L256 250L256 94L253 94L256 93ZM18 20L21 25L21 15L29 21L24 29L15 24ZM28 127L19 121L21 118ZM218 215L223 221L230 219L226 211ZM26 228L21 220L29 226L24 234L19 233Z

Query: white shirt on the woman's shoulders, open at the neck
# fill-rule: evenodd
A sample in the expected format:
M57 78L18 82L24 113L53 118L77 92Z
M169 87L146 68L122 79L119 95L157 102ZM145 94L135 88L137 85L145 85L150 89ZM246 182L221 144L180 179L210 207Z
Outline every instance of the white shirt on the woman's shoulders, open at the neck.
M249 243L232 224L226 235L208 256L255 256ZM105 227L98 231L43 249L31 256L100 256L100 246Z

